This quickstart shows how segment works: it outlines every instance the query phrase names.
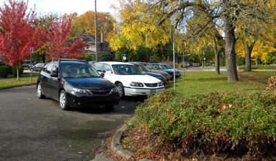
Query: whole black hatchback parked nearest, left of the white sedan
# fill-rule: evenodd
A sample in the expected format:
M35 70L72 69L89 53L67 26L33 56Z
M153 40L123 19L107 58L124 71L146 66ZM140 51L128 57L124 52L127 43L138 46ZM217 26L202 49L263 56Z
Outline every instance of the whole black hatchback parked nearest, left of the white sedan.
M58 100L63 110L94 105L112 109L119 104L119 91L103 76L86 63L69 60L50 62L39 74L37 96Z

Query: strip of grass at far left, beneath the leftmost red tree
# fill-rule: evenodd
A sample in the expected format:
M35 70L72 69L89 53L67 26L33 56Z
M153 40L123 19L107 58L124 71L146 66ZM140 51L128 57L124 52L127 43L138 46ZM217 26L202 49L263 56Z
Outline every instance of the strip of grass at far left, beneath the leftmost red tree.
M0 89L5 87L17 87L21 85L33 85L37 83L38 74L32 74L32 82L30 82L30 74L22 74L17 81L17 78L9 75L8 78L0 78Z

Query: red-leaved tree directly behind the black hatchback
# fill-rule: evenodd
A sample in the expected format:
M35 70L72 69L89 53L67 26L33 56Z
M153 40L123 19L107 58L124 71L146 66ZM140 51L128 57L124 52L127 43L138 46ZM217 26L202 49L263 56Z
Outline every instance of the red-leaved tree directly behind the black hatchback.
M72 17L64 15L55 16L46 32L46 54L49 58L79 58L83 53L86 43L81 36L70 39ZM69 40L70 39L70 40Z

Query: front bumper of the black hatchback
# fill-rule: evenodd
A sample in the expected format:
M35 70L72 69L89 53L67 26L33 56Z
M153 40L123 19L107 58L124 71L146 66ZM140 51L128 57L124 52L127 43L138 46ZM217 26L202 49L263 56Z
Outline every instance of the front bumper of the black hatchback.
M112 92L107 95L87 95L66 93L67 105L70 107L97 107L107 105L118 105L119 94Z

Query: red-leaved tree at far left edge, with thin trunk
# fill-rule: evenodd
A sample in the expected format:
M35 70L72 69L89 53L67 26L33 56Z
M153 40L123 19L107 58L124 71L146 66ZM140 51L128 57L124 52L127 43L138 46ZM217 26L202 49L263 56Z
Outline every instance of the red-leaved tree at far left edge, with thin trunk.
M22 67L21 62L30 56L30 47L40 45L41 27L33 25L34 10L28 10L28 3L12 1L4 3L0 8L0 59L8 65Z

